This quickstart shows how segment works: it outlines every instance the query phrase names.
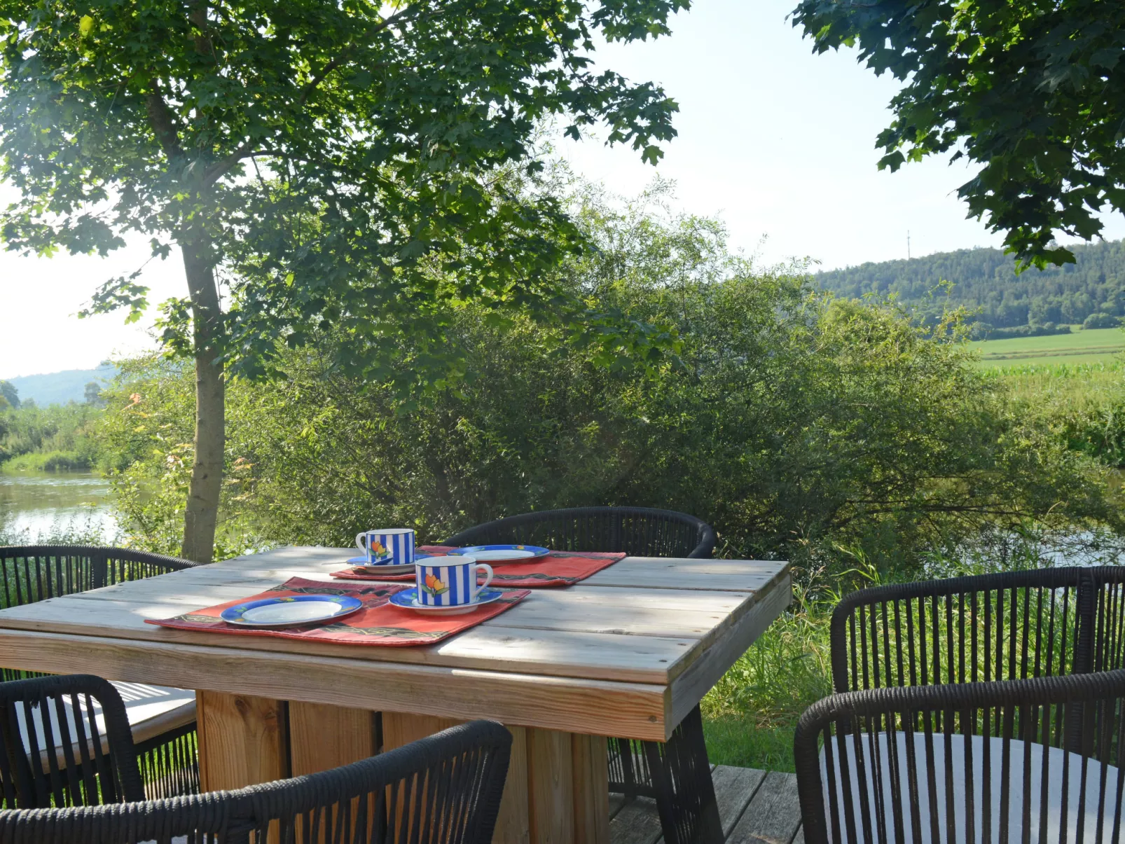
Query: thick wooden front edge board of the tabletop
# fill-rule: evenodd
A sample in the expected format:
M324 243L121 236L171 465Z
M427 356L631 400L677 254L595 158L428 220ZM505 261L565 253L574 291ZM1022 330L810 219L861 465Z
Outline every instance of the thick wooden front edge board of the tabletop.
M656 742L675 727L659 684L16 630L0 635L0 665Z

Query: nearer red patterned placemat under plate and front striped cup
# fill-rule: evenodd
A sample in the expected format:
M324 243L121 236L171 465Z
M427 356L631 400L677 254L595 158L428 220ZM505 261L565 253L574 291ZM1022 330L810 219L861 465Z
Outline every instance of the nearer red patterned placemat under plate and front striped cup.
M215 607L188 612L168 619L145 619L150 625L174 627L180 630L207 630L232 636L272 636L280 639L303 639L305 641L332 641L344 645L384 645L403 647L408 645L432 645L435 641L479 625L504 610L514 607L528 596L528 590L505 591L504 596L462 616L422 614L387 603L396 592L408 589L400 584L349 584L335 585L323 581L307 581L290 577L280 586L237 601L227 601ZM287 598L289 595L328 594L351 595L363 602L363 609L328 625L318 627L288 627L278 630L255 630L228 625L219 613L228 607L258 601L263 598Z

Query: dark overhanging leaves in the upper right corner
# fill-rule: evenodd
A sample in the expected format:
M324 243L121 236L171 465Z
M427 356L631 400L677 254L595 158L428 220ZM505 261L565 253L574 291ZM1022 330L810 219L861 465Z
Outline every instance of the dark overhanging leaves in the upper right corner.
M856 45L906 82L880 168L955 150L981 164L958 194L1007 232L1023 267L1073 261L1055 232L1101 232L1125 210L1125 6L1106 0L802 0L822 53Z

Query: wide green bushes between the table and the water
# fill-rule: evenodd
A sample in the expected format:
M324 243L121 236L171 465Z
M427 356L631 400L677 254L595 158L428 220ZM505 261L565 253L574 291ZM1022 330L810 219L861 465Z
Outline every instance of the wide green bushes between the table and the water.
M844 545L910 572L993 521L1122 521L1107 469L1011 413L955 320L919 327L893 303L814 294L801 267L757 271L713 221L596 205L585 219L597 250L569 268L573 289L674 324L677 365L605 369L580 336L474 308L447 316L465 377L421 396L289 353L285 379L230 383L223 518L241 527L227 547L350 546L377 522L424 541L637 504L705 519L731 556L832 560ZM421 353L402 348L402 367ZM190 372L142 360L106 392L123 523L165 549L192 390Z

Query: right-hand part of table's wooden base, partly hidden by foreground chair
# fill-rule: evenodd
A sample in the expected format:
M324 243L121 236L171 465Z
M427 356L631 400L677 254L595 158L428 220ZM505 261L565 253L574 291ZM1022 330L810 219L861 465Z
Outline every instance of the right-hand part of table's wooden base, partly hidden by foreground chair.
M458 721L382 713L382 746L392 749ZM493 844L608 844L605 738L510 727L512 760Z

